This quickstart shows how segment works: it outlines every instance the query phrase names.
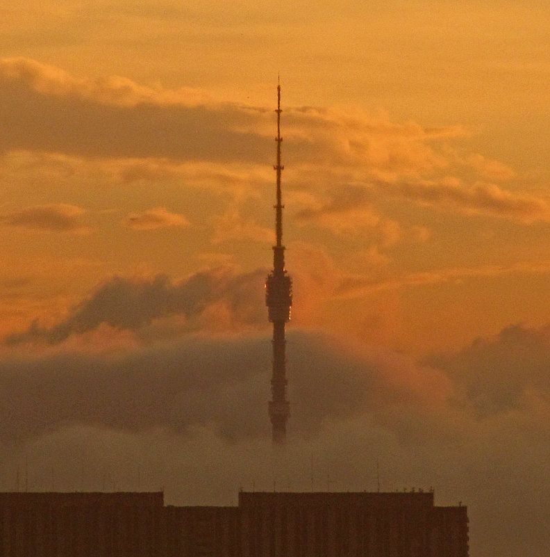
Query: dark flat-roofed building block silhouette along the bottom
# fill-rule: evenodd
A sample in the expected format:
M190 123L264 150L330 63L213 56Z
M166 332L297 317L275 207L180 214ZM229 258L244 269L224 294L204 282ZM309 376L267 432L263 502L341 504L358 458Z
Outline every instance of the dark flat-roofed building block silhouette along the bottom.
M3 557L467 557L464 506L432 492L240 492L236 507L163 493L0 493Z

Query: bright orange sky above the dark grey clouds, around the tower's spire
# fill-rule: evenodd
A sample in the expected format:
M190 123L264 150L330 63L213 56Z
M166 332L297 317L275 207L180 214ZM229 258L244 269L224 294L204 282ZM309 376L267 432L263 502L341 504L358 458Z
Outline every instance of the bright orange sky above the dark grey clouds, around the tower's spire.
M415 353L546 323L540 7L19 6L0 24L3 330L114 273L268 265L278 72L289 268L329 266L297 323Z

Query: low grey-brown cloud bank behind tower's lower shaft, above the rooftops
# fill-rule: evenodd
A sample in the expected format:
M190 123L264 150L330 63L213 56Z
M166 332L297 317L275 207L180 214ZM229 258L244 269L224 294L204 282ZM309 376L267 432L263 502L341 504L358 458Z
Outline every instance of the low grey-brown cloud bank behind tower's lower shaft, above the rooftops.
M424 364L291 332L280 454L269 449L270 350L268 335L240 335L5 354L0 481L13 488L26 453L33 490L165 486L170 503L231 504L239 486L374 490L378 460L383 490L433 486L437 503L469 506L472 555L544 557L546 329L509 328ZM510 543L512 524L531 535Z

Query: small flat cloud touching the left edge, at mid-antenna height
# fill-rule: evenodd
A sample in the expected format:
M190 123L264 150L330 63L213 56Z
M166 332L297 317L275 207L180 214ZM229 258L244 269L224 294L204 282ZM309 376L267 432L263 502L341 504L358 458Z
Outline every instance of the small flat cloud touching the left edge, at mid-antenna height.
M0 223L50 232L86 232L88 229L78 222L84 212L64 203L36 205L0 216Z

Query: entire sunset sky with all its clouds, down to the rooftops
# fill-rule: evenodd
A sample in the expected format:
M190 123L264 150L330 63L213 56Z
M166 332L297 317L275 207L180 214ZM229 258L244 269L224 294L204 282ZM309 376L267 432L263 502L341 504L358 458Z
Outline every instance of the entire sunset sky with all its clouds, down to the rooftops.
M0 489L225 505L378 462L468 505L472 557L547 557L550 6L335 6L0 8Z

